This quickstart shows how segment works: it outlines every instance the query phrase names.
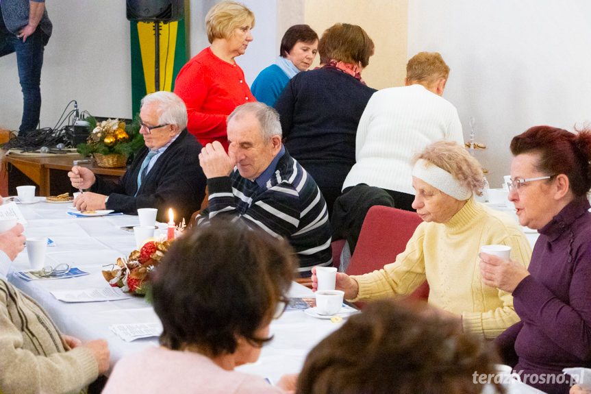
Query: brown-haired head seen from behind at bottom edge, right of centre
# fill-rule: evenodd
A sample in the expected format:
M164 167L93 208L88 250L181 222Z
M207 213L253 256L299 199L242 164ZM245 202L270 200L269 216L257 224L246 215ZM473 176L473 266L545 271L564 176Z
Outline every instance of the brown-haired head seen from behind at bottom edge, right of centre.
M497 357L456 319L382 299L310 351L296 393L481 393L474 373L494 375Z

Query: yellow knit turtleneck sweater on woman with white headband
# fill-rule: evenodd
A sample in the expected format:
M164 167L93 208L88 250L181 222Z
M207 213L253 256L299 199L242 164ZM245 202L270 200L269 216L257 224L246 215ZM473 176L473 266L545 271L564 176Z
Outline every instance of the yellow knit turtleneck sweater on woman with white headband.
M509 293L481 282L482 245L509 245L511 258L529 265L531 247L517 223L470 198L447 223L420 223L405 251L383 269L353 276L352 301L412 293L425 279L429 304L462 315L464 331L494 338L519 321Z

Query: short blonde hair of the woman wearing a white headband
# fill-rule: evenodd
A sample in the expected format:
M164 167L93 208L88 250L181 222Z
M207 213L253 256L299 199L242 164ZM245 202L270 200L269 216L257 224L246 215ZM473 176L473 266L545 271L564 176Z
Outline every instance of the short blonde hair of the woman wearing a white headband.
M482 195L484 174L478 160L453 141L440 140L428 145L425 150L414 156L412 164L423 159L451 174L461 186L468 188L477 196Z

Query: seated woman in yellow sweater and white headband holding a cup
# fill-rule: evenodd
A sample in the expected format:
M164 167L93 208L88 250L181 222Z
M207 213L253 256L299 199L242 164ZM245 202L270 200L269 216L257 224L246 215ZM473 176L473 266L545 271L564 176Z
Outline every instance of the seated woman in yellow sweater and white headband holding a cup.
M475 201L473 194L480 195L484 186L483 173L457 143L438 141L419 153L412 186L412 207L424 223L405 251L372 273L338 273L336 288L349 301L370 301L408 295L427 280L429 304L461 317L465 332L496 337L519 318L510 293L481 281L479 250L482 245L508 245L512 259L527 267L531 247L525 234L507 215ZM312 283L315 288L316 275Z

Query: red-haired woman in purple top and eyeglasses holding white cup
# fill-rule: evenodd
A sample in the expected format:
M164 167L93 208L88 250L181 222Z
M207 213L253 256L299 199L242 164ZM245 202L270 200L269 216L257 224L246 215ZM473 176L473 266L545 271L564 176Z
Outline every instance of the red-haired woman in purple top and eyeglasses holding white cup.
M483 282L512 293L521 318L496 343L527 384L568 393L562 369L591 367L591 131L531 127L511 151L509 199L540 236L529 269L481 254Z

